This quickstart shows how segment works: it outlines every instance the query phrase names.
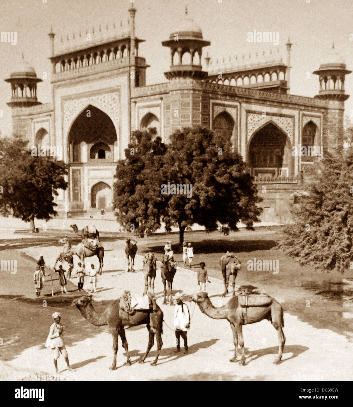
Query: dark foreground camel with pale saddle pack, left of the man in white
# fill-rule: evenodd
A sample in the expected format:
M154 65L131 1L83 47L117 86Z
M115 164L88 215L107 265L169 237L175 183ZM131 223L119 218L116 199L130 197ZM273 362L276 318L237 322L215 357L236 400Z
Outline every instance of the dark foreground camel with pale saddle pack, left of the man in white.
M72 306L76 306L82 316L88 322L95 326L108 325L111 335L113 336L113 363L110 370L116 369L116 355L118 353L118 337L122 340L122 346L126 352L126 362L124 365L131 366L129 355L129 347L125 336L124 326L137 326L146 324L148 329L148 346L146 353L139 361L144 363L148 353L150 352L154 342L155 336L157 340L157 355L151 365L155 366L163 346L162 333L163 333L163 311L159 308L155 298L150 298L152 307L146 310L135 310L133 314L129 314L120 306L121 298L114 301L108 306L103 313L97 313L91 304L91 298L88 296L80 297L72 302Z

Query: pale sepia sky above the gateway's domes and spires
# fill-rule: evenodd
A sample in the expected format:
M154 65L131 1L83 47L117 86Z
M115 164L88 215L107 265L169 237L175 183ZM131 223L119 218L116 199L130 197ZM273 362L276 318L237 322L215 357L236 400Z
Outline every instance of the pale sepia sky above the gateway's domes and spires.
M17 45L0 42L0 76L9 76L16 61L24 52L25 60L34 66L37 76L48 72L48 79L39 83L37 96L42 103L50 102L51 66L50 43L47 33L50 26L60 37L82 33L92 27L104 31L106 24L120 20L126 26L130 0L0 0L0 31L16 31ZM185 5L188 17L200 25L203 38L211 42L204 48L211 58L253 53L274 48L271 44L251 44L247 33L275 31L279 33L281 55L285 58L288 35L292 42L291 94L314 96L318 93L318 77L312 72L325 61L332 42L335 51L353 70L353 1L352 0L135 0L136 34L146 42L140 44L139 56L151 66L147 69L146 84L166 82L163 72L169 69L170 52L161 46L169 39L172 28L183 17ZM58 49L58 48L57 48ZM274 50L275 51L275 50ZM285 59L284 59L285 61ZM309 78L307 78L309 72ZM352 96L345 102L345 114L353 119L353 73L346 77L345 89ZM6 102L11 98L10 84L0 81L0 131L11 134L11 109ZM0 115L1 116L1 115Z

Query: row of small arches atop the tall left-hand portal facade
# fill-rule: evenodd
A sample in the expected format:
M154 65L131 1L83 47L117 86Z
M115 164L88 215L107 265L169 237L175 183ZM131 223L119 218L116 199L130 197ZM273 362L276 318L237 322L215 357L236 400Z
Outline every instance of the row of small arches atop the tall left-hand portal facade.
M97 63L112 61L113 59L126 58L129 56L129 46L122 45L107 50L96 51L92 54L81 55L75 58L63 59L55 66L55 72L63 72L83 66L96 65Z

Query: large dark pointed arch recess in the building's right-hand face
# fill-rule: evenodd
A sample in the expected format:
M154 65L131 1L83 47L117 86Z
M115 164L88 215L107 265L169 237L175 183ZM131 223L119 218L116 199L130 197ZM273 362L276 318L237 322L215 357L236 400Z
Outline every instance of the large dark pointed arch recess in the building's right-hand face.
M255 176L292 177L292 149L288 137L273 123L268 123L251 139L248 163Z

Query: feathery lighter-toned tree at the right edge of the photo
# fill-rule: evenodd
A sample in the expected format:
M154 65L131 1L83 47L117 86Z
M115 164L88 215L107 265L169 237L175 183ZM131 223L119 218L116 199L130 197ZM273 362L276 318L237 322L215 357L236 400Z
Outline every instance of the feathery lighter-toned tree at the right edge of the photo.
M293 223L283 229L281 247L301 265L343 272L353 256L353 147L314 162L307 195L293 205Z

